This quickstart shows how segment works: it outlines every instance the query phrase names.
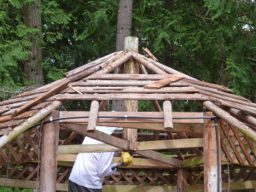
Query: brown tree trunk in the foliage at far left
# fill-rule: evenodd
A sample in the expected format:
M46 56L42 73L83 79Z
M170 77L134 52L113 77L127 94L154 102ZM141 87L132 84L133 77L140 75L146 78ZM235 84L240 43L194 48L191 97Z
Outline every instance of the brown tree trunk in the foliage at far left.
M23 7L24 24L30 28L36 28L41 31L41 0L38 3L26 4ZM32 46L28 48L31 54L28 56L28 61L25 62L24 71L26 79L34 82L36 85L44 84L43 69L40 65L42 60L42 49L40 49L40 39L33 34L30 35Z

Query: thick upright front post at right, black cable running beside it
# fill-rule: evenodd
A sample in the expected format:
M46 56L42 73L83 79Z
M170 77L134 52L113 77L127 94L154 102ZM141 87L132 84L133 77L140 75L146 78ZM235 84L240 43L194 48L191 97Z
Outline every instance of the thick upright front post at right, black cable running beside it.
M212 113L204 113L204 117L212 116ZM214 119L204 119L204 191L220 192L221 175L218 175L220 164L218 164L217 137ZM220 155L220 154L219 154ZM220 162L219 162L220 163ZM219 176L219 177L218 177Z

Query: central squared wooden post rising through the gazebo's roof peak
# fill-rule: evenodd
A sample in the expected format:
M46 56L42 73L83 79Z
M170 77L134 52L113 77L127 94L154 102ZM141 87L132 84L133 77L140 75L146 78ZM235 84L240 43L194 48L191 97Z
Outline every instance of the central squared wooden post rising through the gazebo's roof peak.
M125 50L131 50L138 52L138 38L126 37L125 38ZM139 65L133 61L132 58L125 63L124 73L138 74ZM125 100L125 111L137 112L137 100ZM124 129L124 139L136 142L137 141L137 129Z

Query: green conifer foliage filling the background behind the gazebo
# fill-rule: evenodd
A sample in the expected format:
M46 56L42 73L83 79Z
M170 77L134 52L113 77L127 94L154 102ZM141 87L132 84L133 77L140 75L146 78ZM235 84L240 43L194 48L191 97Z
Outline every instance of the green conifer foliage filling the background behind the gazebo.
M41 39L44 83L115 50L119 0L42 0L42 32L23 24L22 7L36 0L0 0L0 88L18 90L26 82L23 63ZM235 0L134 1L132 35L169 67L196 79L224 84L255 102L254 2ZM142 51L140 51L142 52ZM177 111L201 110L177 102ZM153 111L150 102L139 110Z

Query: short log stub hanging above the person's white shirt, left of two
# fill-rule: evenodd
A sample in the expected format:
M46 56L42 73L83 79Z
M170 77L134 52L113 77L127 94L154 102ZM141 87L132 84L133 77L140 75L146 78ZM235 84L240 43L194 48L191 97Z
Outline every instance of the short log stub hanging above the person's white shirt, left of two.
M90 104L90 114L89 114L88 126L87 126L88 132L95 132L98 112L99 112L99 102L92 101Z

